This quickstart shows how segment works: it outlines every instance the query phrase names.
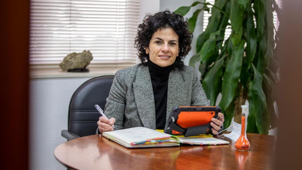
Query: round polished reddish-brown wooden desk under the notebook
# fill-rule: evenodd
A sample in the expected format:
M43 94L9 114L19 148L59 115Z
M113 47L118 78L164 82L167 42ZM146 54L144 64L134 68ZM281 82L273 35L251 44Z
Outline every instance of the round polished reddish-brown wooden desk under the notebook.
M237 151L235 142L128 149L105 137L92 135L59 145L54 155L66 167L83 170L272 169L274 136L248 133L247 137L251 144L249 151Z

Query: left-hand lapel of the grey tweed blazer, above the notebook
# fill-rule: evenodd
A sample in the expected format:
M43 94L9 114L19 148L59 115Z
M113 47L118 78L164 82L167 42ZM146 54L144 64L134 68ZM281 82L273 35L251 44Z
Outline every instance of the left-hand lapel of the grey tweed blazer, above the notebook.
M154 95L148 67L143 65L138 67L133 91L143 125L149 129L156 129Z

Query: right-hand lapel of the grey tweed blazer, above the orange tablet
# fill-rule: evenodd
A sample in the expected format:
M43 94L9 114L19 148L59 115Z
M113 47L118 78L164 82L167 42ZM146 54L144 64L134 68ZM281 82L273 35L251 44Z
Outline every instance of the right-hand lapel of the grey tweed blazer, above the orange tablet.
M186 105L186 103L184 103L184 98L187 96L185 84L186 83L182 78L182 74L180 74L178 69L170 72L166 121L168 120L169 114L171 113L173 107Z

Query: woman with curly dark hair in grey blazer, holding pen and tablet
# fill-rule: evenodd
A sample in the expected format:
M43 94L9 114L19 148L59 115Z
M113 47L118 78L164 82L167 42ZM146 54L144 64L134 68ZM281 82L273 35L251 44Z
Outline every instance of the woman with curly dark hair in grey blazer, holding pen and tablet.
M187 25L168 10L146 15L135 38L141 63L116 72L104 110L110 119L99 118L99 132L112 131L113 124L164 129L174 106L210 106L197 70L183 63L193 38ZM224 121L222 113L218 116L210 123L214 134Z

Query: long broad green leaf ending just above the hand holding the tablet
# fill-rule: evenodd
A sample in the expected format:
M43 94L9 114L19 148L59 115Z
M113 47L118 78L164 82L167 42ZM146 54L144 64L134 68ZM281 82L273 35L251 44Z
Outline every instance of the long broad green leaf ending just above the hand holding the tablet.
M242 40L240 44L234 48L232 57L226 66L222 82L222 97L219 103L222 110L225 110L233 100L240 76L244 44L245 41Z

